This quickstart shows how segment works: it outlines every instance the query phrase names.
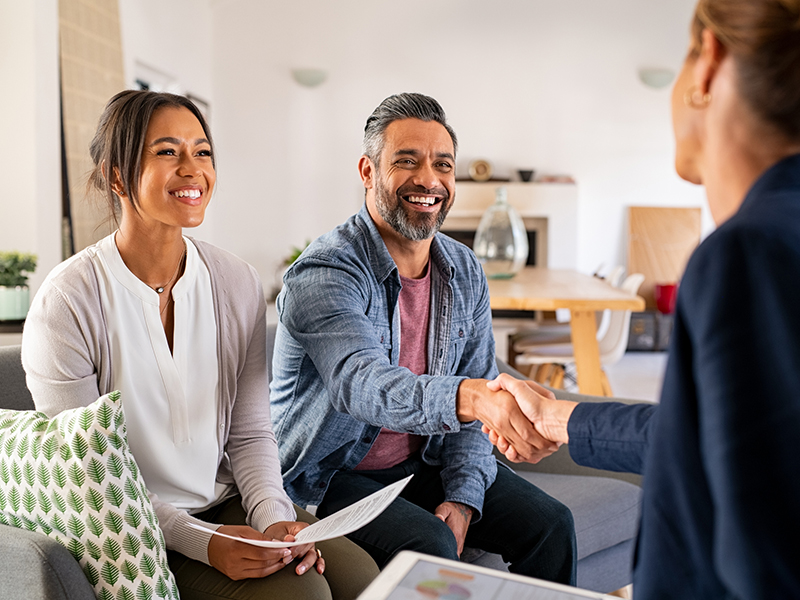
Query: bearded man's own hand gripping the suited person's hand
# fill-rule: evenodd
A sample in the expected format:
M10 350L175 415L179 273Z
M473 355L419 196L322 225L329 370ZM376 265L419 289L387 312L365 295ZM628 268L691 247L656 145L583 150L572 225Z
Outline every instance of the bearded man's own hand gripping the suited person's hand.
M512 378L513 379L513 378ZM514 447L521 460L537 463L558 445L543 438L517 401L501 386L485 379L465 379L458 388L456 414L462 423L478 420Z

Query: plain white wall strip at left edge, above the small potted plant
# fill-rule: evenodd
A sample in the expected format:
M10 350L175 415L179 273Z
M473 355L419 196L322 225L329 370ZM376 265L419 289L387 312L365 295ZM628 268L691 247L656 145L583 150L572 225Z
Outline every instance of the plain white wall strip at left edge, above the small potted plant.
M61 261L57 0L0 0L0 250Z

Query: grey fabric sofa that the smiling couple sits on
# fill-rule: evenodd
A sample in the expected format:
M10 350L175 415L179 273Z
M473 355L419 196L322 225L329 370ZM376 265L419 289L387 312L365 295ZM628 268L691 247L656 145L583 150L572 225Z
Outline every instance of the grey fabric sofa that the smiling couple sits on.
M269 334L271 351L273 328ZM501 370L515 373L498 362ZM19 346L0 347L0 408L33 408ZM513 468L572 510L580 587L608 592L630 583L641 496L637 478L579 467L566 447L539 465ZM466 560L477 564L505 567L498 555L473 550L465 554ZM95 596L80 566L63 546L45 535L0 525L0 600L20 598L93 600Z

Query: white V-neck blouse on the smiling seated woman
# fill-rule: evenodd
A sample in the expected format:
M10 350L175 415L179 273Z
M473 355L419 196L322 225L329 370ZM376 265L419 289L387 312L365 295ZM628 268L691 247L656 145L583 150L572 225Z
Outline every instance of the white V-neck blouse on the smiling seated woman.
M122 392L128 443L148 490L163 502L199 512L227 495L216 482L217 327L208 269L184 237L186 267L172 288L173 351L159 295L128 270L114 234L97 244L111 347L113 387Z

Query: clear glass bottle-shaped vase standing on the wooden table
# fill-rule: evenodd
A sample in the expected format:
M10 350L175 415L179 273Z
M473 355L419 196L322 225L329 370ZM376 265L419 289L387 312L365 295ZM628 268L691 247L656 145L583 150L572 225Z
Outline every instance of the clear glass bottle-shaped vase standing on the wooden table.
M483 213L473 249L486 276L492 279L509 279L525 266L528 233L517 211L508 204L506 188L497 188L495 203Z

